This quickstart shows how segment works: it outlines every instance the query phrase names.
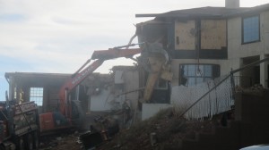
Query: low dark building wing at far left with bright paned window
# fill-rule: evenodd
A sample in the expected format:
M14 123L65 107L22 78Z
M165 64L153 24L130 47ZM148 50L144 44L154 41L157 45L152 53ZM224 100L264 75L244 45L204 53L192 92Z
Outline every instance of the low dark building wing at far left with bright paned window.
M97 76L99 74L93 74ZM23 102L34 101L39 106L39 113L58 111L59 89L71 74L60 73L31 73L6 72L5 78L9 83L9 98ZM83 90L82 90L83 89ZM72 99L81 99L82 105L88 104L87 90L78 86L70 94ZM87 107L83 107L85 112Z

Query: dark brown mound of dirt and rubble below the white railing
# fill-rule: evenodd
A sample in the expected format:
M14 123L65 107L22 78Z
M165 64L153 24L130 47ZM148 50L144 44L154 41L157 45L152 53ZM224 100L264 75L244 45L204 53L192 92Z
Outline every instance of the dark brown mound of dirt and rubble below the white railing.
M187 121L168 109L130 129L121 130L97 149L178 149L183 138L195 138L196 132L211 132L212 129L212 121Z

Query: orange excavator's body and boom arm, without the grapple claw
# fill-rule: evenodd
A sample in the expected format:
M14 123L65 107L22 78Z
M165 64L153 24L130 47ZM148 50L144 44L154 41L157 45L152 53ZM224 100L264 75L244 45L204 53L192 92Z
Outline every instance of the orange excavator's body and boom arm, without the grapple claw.
M79 101L69 99L70 92L86 79L100 65L110 59L119 57L132 57L134 54L140 54L140 48L120 49L129 46L119 46L108 50L94 51L86 63L74 73L61 87L59 92L59 112L47 112L39 115L40 131L51 131L53 129L66 129L77 127L82 123L83 115L82 106ZM89 66L87 64L95 60Z

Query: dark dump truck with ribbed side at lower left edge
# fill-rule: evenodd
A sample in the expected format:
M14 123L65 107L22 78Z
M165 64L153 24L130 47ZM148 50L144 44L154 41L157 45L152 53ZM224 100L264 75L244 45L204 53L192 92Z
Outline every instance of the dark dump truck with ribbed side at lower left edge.
M39 148L39 114L34 102L0 102L0 150Z

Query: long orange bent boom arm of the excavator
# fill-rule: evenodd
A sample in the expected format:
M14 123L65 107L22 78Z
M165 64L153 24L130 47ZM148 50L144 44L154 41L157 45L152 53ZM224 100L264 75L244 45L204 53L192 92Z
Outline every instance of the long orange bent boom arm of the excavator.
M128 47L128 46L120 46L121 47ZM142 49L140 48L133 48L133 49L119 49L117 48L110 48L108 50L98 50L94 51L91 55L91 59L89 59L86 63L82 65L82 67L74 73L65 84L61 87L59 96L60 96L60 104L59 109L62 114L64 114L66 117L70 117L71 114L68 112L67 107L68 101L67 97L70 91L74 89L74 87L77 87L84 79L86 79L93 71L95 71L97 68L100 67L100 65L110 59L115 59L119 57L126 57L131 58L134 54L140 54L142 52ZM93 63L91 63L91 60L95 60ZM87 64L91 63L89 66ZM86 67L87 66L87 67Z

